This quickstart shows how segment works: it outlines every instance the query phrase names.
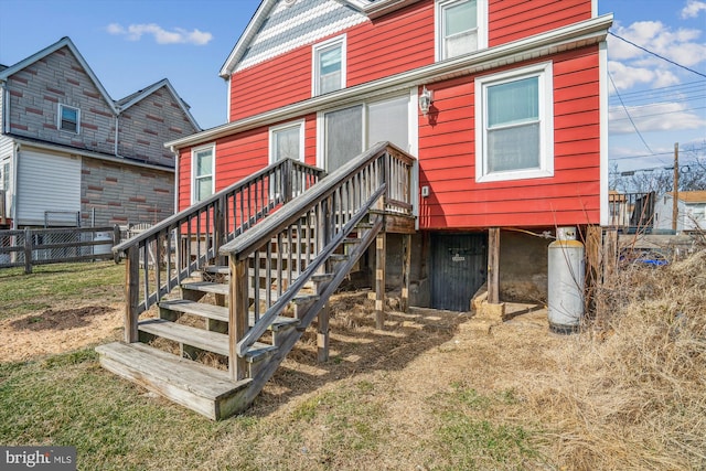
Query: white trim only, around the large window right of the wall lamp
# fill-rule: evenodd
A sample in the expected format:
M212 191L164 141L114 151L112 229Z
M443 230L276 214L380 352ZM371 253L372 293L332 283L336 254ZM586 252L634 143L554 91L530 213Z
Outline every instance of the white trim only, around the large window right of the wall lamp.
M532 76L539 77L539 168L488 173L486 157L486 89L489 85L514 82ZM475 181L499 182L506 180L554 176L554 68L550 62L530 65L475 78Z

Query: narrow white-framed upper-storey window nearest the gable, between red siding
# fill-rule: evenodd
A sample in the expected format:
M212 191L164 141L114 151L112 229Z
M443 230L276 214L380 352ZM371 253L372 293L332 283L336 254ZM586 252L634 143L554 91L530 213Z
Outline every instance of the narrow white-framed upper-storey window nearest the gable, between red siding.
M345 36L313 46L312 95L323 95L345 87Z

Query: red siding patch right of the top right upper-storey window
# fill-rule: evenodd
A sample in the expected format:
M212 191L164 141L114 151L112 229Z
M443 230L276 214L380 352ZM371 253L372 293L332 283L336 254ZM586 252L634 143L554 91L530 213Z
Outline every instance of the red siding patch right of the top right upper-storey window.
M587 0L491 0L488 44L493 47L590 18Z

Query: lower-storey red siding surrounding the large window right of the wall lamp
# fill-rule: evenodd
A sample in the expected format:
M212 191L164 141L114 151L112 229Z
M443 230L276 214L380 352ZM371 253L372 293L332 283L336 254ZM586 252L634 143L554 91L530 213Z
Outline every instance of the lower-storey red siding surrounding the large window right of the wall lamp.
M554 176L475 182L474 77L437 84L420 118L422 228L595 224L600 212L597 47L554 57ZM520 65L513 66L518 67ZM493 71L498 72L498 71ZM431 126L434 121L434 126Z

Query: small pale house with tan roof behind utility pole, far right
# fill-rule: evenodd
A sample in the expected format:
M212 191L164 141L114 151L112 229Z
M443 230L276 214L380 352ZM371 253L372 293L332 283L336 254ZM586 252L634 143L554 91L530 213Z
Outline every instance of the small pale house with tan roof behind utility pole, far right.
M674 193L665 193L654 205L654 227L672 228ZM676 231L706 231L706 191L681 191L677 200Z

